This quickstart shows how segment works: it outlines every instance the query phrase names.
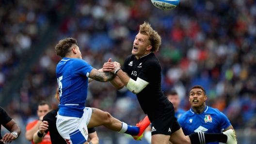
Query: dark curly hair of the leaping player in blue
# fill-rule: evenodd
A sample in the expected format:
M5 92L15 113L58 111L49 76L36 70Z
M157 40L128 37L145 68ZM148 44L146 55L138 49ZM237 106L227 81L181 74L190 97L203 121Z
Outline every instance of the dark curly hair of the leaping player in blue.
M74 44L78 45L77 40L74 38L65 38L60 40L59 43L55 46L56 55L64 58L68 53L70 53L70 47Z

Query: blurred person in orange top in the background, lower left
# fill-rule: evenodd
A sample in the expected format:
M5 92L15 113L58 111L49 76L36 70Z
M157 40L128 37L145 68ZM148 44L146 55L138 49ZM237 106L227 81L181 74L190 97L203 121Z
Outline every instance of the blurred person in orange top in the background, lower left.
M27 125L26 138L27 138L27 140L31 141L32 144L34 144L34 142L33 142L34 133L37 132L40 124L42 123L43 117L49 111L50 111L50 105L45 101L40 102L38 105L38 110L37 110L37 115L38 115L39 119L34 120L33 122L31 122ZM44 137L43 141L40 144L51 144L49 132L46 134L46 136Z

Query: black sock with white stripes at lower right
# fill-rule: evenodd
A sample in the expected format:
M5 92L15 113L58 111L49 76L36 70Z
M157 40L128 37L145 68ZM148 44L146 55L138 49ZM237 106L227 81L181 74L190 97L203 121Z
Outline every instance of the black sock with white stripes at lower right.
M207 144L211 142L226 143L227 136L223 133L195 132L189 135L191 144Z

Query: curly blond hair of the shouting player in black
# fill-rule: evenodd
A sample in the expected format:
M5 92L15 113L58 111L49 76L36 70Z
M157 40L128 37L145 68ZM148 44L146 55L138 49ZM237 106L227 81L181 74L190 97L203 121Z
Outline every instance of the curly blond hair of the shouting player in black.
M157 31L153 30L149 23L144 22L144 24L140 25L140 31L141 34L148 35L149 36L149 45L152 46L151 52L157 52L159 50L159 47L161 45L161 37L158 34Z

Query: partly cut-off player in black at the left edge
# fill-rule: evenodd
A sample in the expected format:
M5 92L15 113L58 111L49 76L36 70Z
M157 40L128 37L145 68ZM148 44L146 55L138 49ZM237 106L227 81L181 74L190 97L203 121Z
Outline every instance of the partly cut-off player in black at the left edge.
M12 141L15 141L21 133L17 123L6 113L2 107L0 107L0 130L1 126L9 130L11 133L6 133L2 137L0 132L0 144L12 143Z

